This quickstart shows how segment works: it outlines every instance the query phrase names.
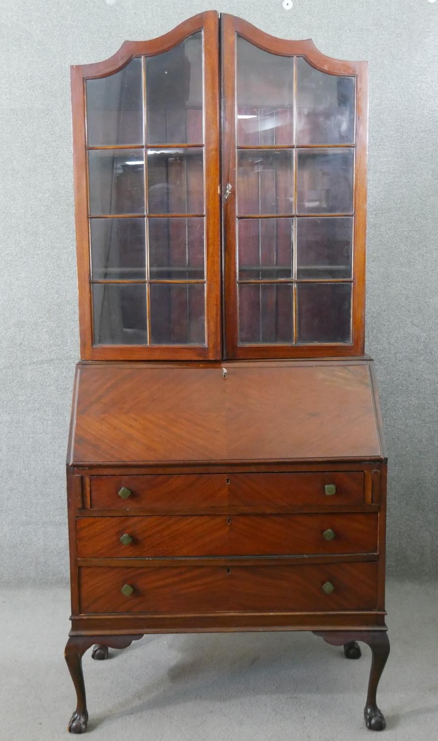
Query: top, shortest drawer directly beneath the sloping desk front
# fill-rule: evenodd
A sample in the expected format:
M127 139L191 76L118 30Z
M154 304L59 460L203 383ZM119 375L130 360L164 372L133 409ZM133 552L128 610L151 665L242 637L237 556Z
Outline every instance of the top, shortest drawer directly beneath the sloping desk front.
M124 499L118 492L122 489ZM288 505L355 505L364 501L363 471L314 473L181 473L91 476L94 509L184 509Z

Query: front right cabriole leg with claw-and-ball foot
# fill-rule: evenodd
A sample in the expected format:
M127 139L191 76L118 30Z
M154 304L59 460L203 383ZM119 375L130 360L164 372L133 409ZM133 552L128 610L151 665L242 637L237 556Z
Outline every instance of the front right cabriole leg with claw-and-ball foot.
M383 731L386 727L386 721L382 711L377 707L376 695L380 677L382 676L385 663L389 656L390 647L386 631L358 631L357 633L314 631L314 634L320 636L331 645L344 645L346 656L348 652L352 651L356 641L368 643L368 646L371 648L372 659L368 682L368 694L364 710L365 724L371 731Z

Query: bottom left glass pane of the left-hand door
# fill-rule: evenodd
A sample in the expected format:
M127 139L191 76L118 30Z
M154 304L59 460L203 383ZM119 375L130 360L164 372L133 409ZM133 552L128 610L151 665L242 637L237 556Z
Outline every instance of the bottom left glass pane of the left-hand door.
M146 284L94 283L95 345L146 345Z

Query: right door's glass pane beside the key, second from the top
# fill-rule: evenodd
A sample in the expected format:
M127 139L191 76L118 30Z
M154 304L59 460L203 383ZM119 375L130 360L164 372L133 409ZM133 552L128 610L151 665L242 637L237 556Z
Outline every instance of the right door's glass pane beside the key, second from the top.
M294 213L293 150L240 150L237 213Z

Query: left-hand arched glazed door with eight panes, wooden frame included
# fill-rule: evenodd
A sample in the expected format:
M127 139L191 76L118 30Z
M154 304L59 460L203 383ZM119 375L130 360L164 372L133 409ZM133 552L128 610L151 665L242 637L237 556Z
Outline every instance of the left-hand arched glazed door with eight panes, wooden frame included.
M72 68L81 356L221 354L218 15Z

